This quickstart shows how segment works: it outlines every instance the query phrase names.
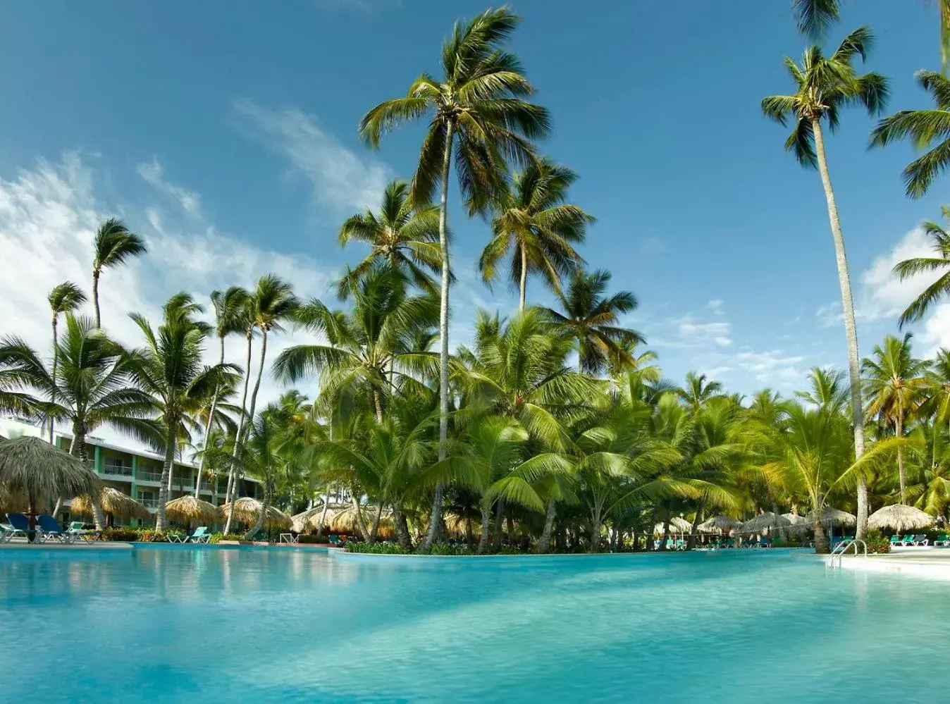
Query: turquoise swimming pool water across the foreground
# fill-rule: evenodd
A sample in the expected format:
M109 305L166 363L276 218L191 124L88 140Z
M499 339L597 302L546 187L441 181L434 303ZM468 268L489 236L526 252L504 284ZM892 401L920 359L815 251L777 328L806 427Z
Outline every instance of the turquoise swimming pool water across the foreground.
M0 551L10 701L935 702L948 623L945 582L782 551Z

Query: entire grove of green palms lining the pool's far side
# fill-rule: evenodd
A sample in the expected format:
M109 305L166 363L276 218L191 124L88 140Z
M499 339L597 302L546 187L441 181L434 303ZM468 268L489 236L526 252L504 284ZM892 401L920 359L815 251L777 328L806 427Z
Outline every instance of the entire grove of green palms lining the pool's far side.
M149 526L157 532L148 533L159 539L172 521L187 523L169 494L183 454L199 466L196 486L202 473L227 477L223 533L243 521L249 540L276 511L296 514L296 530L314 536L345 522L351 549L370 552L666 550L692 548L704 535L725 541L730 531L733 542L768 536L826 551L829 526L868 537L869 516L883 528L899 527L882 523L888 517L942 525L950 351L921 358L902 333L859 353L847 214L838 211L826 158L840 111L883 113L887 81L860 70L870 29L846 34L826 55L818 40L837 30L836 4L794 5L816 45L786 60L788 91L761 107L790 127L786 149L824 187L844 371L814 369L788 396L731 393L701 373L664 376L630 324L634 292L586 267L582 248L596 237L597 214L572 198L578 174L543 152L552 116L506 48L520 18L501 8L458 22L440 73L408 81L405 94L359 121L372 148L405 123L422 121L426 131L418 161L406 164L409 178L391 181L378 206L341 223L340 245L359 243L368 254L354 258L335 300L300 299L280 272L262 273L249 288L236 282L210 292L208 310L198 296L209 292L182 292L161 319L130 313L140 336L121 343L109 335L99 291L111 269L147 257L148 245L108 219L95 237L90 280L49 292L50 346L31 349L16 331L4 337L0 409L42 424L50 442L55 428L65 429L70 453L84 463L85 438L103 427L161 452ZM933 147L907 167L910 197L950 162L950 84L936 72L919 80L936 108L883 117L872 135L881 146L906 137ZM816 178L816 197L817 187ZM487 223L478 274L512 286L519 304L480 311L462 345L450 334L458 271L449 227L477 216ZM935 282L901 324L950 291L950 235L936 223L926 230L933 257L902 261L897 273L933 272ZM557 303L532 304L539 290ZM310 341L269 353L269 342L290 330ZM225 355L231 336L246 343L241 358ZM270 403L259 394L265 375L289 389ZM250 513L238 501L243 477L263 487ZM80 499L71 495L75 482L53 479L30 494L31 512ZM0 475L0 505L22 501L27 485L22 472ZM104 528L104 495L90 491L90 515ZM198 503L196 488L195 516L206 510ZM875 522L890 506L898 508Z

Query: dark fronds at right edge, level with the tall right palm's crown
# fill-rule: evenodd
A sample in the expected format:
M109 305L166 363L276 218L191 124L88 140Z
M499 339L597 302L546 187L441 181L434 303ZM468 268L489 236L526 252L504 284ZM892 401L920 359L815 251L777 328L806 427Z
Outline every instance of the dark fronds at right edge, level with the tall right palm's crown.
M947 166L950 166L950 80L936 71L918 71L921 88L934 98L935 107L901 110L885 117L871 132L871 145L884 146L909 137L921 157L907 164L903 183L909 198L920 198Z

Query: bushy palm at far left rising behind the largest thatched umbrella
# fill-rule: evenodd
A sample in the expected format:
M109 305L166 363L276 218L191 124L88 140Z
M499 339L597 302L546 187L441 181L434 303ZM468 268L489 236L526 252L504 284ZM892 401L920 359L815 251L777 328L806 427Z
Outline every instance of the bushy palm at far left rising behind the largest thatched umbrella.
M54 357L55 374L22 339L5 337L0 344L0 367L15 374L21 389L38 391L49 401L28 397L45 417L68 421L72 429L69 454L88 461L85 438L96 428L110 426L137 440L154 443L160 428L149 416L152 398L136 388L123 350L94 327L92 320L66 313L66 331ZM96 497L92 499L96 527L105 527Z

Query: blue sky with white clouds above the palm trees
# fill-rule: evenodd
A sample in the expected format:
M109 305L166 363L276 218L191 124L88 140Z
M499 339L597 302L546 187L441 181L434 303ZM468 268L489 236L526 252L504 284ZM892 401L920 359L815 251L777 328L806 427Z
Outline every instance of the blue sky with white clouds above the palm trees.
M803 41L790 3L675 4L522 0L512 43L553 115L542 150L580 174L573 200L596 215L583 255L640 300L631 324L664 371L707 371L732 390L801 388L814 365L840 366L844 333L825 200L815 172L783 151L786 130L759 101L788 92L785 54ZM483 3L59 2L0 5L0 284L4 332L45 344L48 289L88 279L95 224L120 215L149 238L147 260L104 277L106 327L156 314L184 288L206 296L275 271L330 299L339 222L409 176L422 127L379 152L356 137L371 105L438 68L459 16ZM845 3L846 29L871 25L866 67L891 79L892 110L927 105L913 81L939 68L931 3ZM845 115L828 159L845 228L862 352L895 330L920 282L888 276L921 250L947 181L903 196L905 145L868 152L873 121ZM457 340L489 292L474 262L487 238L451 196ZM549 300L540 282L536 301ZM918 330L918 351L950 345L950 307ZM306 339L284 336L280 345ZM131 341L131 340L130 340ZM237 343L236 343L237 344ZM273 390L276 392L276 390Z

